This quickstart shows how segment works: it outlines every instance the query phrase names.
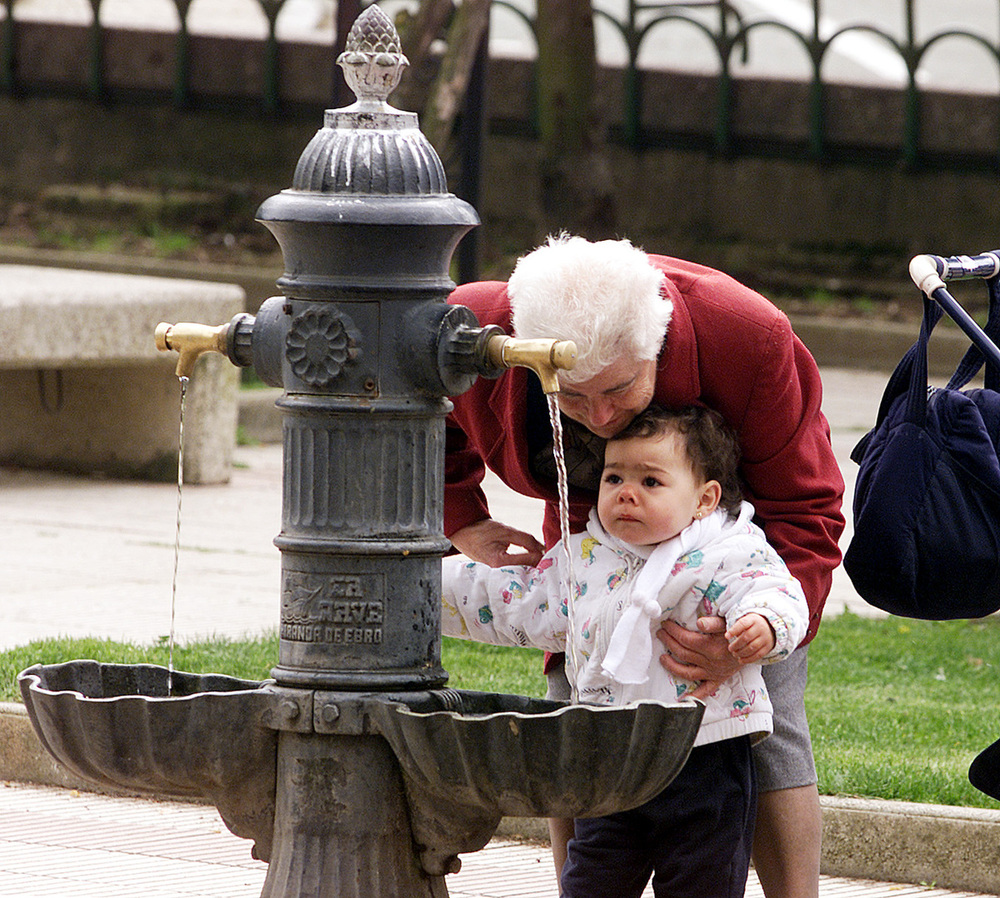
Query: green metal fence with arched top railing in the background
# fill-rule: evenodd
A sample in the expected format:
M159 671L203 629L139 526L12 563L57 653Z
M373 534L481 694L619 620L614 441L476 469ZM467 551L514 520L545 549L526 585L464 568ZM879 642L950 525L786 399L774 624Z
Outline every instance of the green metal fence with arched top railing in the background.
M109 29L102 20L105 0L78 0L78 2L89 4L92 17L86 41L86 63L83 65L86 75L84 83L75 84L74 89L94 100L106 101L113 95L114 86L109 83L106 71L105 53ZM192 0L159 0L159 2L172 4L176 8L179 26L172 37L173 59L170 63L172 86L169 93L173 103L185 106L195 99L191 89L192 36L188 26ZM257 64L261 69L259 105L269 114L280 114L285 75L277 23L288 0L253 0L253 2L260 7L267 22L266 36L260 41L258 48ZM370 0L341 0L337 4L337 27L333 29L332 35L334 52L338 52L347 28L368 2ZM884 2L888 3L888 0ZM815 158L823 158L828 150L827 134L830 130L831 116L826 102L829 82L824 80L824 65L835 51L838 42L843 41L845 36L865 34L879 39L891 53L898 55L905 69L905 82L901 88L904 115L899 146L902 158L906 162L916 163L921 157L922 88L917 78L918 69L928 52L942 41L960 40L985 51L987 58L991 60L991 64L995 64L1000 74L1000 44L997 43L996 37L986 33L993 25L1000 25L1000 0L995 4L995 19L990 23L989 29L986 23L976 21L970 22L968 27L942 27L921 37L918 37L917 28L918 0L896 0L896 2L900 4L898 18L902 24L898 31L893 33L867 21L830 30L824 23L822 0L812 0L811 23L807 27L798 28L787 21L766 14L751 18L742 13L733 0L667 0L667 2L627 0L624 8L618 3L614 11L609 8L607 0L604 2L597 0L594 4L595 17L620 35L625 48L625 64L622 71L622 138L633 146L648 144L652 139L642 125L645 73L639 63L640 54L652 35L662 33L665 29L683 26L696 29L712 48L713 62L716 66L716 71L709 76L714 79L712 145L719 152L733 151L733 90L734 82L739 81L737 67L747 62L753 36L765 29L776 29L801 47L803 56L808 62L808 151ZM494 4L498 8L513 12L533 32L534 19L525 11L524 4L518 4L514 0L494 0ZM28 50L20 40L20 33L30 23L19 19L16 0L0 0L0 11L3 13L3 18L0 19L0 93L12 95L26 90L32 92L46 90L47 86L44 84L29 83L22 73L26 68L24 57ZM658 60L657 66L669 69L671 60ZM332 72L327 83L329 96L325 99L337 105L342 100L349 101L349 98L337 95L336 76ZM893 87L899 89L898 86ZM65 90L66 86L62 85L61 89ZM997 141L996 158L991 162L993 166L1000 165L1000 133L997 135Z

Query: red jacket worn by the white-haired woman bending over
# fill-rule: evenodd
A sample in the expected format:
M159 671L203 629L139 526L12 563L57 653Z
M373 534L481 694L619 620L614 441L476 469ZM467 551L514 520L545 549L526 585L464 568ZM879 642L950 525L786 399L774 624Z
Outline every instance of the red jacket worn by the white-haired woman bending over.
M738 281L700 265L650 256L666 274L673 317L659 356L653 402L700 403L720 412L739 437L747 499L768 541L802 583L809 602L809 642L819 626L840 563L844 481L820 411L822 384L809 351L785 315ZM466 284L450 301L482 325L511 333L507 285ZM544 542L559 538L555 484L528 468L525 369L479 378L454 397L448 418L445 533L489 517L480 488L488 465L511 489L546 501ZM593 495L570 493L571 527L582 528ZM517 526L516 521L508 521Z

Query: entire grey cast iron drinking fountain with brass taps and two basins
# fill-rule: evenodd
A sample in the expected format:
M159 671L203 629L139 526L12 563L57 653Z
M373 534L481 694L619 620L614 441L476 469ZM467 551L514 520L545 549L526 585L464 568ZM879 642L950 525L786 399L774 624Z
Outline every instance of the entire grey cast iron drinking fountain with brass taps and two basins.
M258 212L281 245L283 295L221 327L156 333L179 376L215 350L284 389L273 679L86 660L19 679L71 770L214 803L269 863L263 896L442 898L458 855L503 815L604 814L656 794L703 707L445 687L446 397L513 365L551 393L574 348L512 340L446 302L478 217L447 193L416 116L386 103L406 60L378 7L339 62L357 102L326 112L292 188Z

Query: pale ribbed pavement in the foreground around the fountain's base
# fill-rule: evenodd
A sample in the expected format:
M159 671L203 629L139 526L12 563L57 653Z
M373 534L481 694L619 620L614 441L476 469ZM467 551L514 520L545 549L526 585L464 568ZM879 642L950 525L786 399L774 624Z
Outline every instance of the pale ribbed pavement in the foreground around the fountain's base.
M214 808L21 784L0 787L0 898L251 898L267 866ZM452 898L557 898L548 848L494 839L447 878ZM751 871L747 898L762 898ZM824 876L820 898L986 898ZM643 898L652 898L647 887Z

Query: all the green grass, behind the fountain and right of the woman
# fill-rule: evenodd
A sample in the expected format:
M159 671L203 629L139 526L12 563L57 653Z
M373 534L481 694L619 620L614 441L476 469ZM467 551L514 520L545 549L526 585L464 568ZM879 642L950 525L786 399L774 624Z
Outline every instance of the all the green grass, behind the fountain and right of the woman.
M277 638L178 645L174 666L251 680L269 676ZM968 782L972 759L1000 737L1000 620L875 621L851 614L820 628L806 694L820 791L994 808ZM56 639L0 653L0 698L35 663L94 658L165 665L167 646ZM445 639L449 685L541 696L541 653Z

